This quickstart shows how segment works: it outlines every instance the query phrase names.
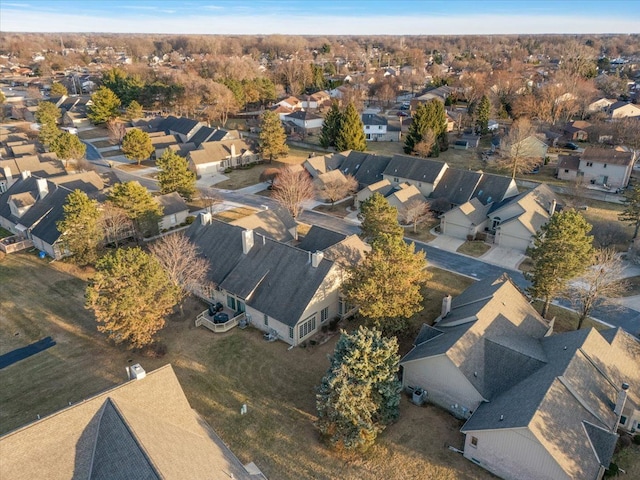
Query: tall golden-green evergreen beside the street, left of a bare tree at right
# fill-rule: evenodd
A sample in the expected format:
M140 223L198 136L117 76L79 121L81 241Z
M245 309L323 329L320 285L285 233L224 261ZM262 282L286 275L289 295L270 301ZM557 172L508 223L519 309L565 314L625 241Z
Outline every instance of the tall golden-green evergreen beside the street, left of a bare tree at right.
M542 316L549 312L551 301L560 295L572 278L591 264L593 237L591 225L573 209L555 213L533 239L527 254L533 269L528 291L544 301Z

